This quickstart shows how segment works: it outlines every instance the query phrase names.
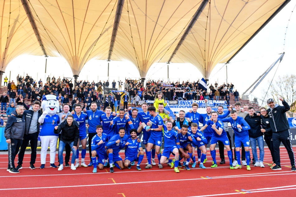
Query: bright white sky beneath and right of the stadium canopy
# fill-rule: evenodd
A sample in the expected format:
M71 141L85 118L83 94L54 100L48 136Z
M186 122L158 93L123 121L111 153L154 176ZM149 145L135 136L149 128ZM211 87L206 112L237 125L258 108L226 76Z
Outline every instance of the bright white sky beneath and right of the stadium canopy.
M270 71L261 84L250 96L263 98L269 82L280 79L287 74L296 75L296 14L292 13L296 0L291 0L227 65L228 83L232 82L242 94L276 59L285 52L282 62ZM296 10L296 9L295 9ZM294 12L295 12L294 10ZM292 14L292 16L291 16ZM291 18L290 18L291 16ZM290 21L289 21L290 18ZM289 23L289 25L288 25ZM288 25L288 28L286 28ZM287 34L285 37L285 32ZM285 46L284 46L285 38ZM279 65L279 66L278 66ZM99 67L98 72L92 72ZM186 69L184 69L186 67ZM278 67L278 69L277 69ZM29 69L28 69L29 68ZM276 70L277 69L277 70ZM96 69L97 70L97 69ZM276 71L276 72L275 72ZM45 57L21 55L13 59L7 66L4 77L16 80L17 74L29 74L38 80L49 76L73 77L70 66L62 57L48 57L45 72ZM109 64L109 81L125 80L125 77L139 79L139 72L131 62L111 61ZM169 65L170 81L196 81L203 76L192 64L171 63ZM167 64L155 63L147 72L146 79L163 79L167 81ZM105 60L90 60L82 68L78 80L108 80L108 63ZM226 66L218 64L209 77L209 84L226 83ZM3 83L3 82L2 82ZM249 90L250 91L250 90Z

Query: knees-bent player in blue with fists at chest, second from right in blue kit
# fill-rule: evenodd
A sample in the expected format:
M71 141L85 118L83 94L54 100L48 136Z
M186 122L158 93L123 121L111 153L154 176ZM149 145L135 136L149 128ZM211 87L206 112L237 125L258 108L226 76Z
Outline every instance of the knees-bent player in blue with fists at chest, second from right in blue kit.
M228 154L228 158L229 158L229 165L230 165L230 169L234 169L232 166L232 152L230 150L230 146L229 146L229 140L227 137L226 132L223 129L223 122L218 118L218 113L217 112L212 112L211 114L211 119L212 120L208 120L207 123L200 129L201 131L203 131L205 128L207 128L209 125L211 126L211 130L213 131L213 135L212 135L212 139L210 141L210 151L211 151L211 156L213 158L213 165L211 167L217 167L217 162L216 162L216 150L215 150L215 146L218 143L218 141L223 142L226 150L227 150L227 154Z

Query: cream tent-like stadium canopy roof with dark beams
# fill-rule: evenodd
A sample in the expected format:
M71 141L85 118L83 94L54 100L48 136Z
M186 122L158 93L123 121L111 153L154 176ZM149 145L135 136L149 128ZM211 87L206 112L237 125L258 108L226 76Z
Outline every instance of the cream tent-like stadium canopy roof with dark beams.
M93 59L192 63L207 79L289 0L0 0L1 71L21 54L64 57L73 75Z

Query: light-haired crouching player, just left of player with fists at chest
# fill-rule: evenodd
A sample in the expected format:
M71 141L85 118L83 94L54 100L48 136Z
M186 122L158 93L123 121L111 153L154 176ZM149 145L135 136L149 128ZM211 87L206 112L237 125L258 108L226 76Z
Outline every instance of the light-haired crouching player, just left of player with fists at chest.
M205 169L204 167L204 159L207 155L207 148L205 147L205 144L208 142L208 140L204 137L203 133L198 130L197 123L191 123L191 128L188 129L188 131L193 135L191 145L192 145L192 153L194 154L195 147L197 147L201 152L201 159L200 159L200 168ZM192 167L196 166L196 162L192 163Z

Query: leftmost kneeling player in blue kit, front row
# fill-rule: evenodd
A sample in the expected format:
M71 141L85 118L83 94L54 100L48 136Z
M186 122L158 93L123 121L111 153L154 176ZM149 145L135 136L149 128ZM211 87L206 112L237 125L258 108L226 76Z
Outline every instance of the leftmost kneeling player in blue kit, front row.
M93 173L96 173L96 156L98 157L98 166L102 170L104 167L105 159L105 143L108 141L108 135L103 132L103 126L96 126L96 135L92 138L92 163L93 163Z

